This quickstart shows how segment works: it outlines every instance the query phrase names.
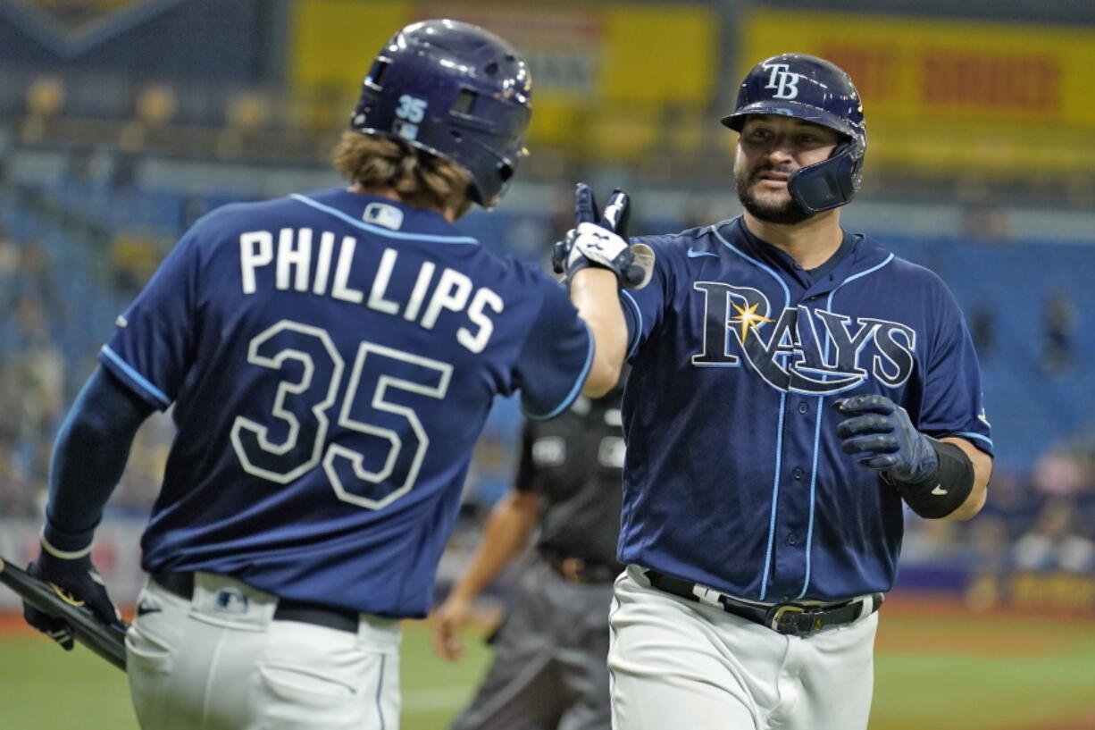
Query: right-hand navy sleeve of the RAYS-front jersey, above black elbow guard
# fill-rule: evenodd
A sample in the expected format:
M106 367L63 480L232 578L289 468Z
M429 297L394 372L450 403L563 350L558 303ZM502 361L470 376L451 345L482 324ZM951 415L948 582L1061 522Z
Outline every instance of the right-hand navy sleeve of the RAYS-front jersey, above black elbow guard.
M992 434L984 414L973 341L958 303L942 282L940 288L938 329L925 353L924 399L918 427L936 438L966 438L992 455Z

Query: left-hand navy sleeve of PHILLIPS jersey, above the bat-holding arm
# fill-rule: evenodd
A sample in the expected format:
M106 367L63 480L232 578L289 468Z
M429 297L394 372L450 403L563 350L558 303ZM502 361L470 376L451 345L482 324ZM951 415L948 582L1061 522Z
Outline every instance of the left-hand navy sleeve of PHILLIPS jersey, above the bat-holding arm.
M118 317L99 352L103 367L161 411L174 402L193 362L197 255L192 229Z

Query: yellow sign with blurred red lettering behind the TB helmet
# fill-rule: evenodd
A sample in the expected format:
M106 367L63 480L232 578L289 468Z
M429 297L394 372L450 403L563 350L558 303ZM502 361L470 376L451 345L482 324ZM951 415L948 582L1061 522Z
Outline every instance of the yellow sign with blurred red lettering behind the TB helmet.
M867 117L868 166L1095 169L1095 31L758 9L740 26L738 76L787 52L851 73Z

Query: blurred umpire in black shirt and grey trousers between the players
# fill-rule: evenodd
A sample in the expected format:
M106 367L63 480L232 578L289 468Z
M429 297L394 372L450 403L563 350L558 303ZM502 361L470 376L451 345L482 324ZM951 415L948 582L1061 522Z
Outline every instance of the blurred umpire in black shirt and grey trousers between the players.
M453 730L593 730L611 725L609 604L620 533L622 385L526 422L514 488L436 614L434 648L457 660L472 603L539 524L509 613L491 638L494 663Z

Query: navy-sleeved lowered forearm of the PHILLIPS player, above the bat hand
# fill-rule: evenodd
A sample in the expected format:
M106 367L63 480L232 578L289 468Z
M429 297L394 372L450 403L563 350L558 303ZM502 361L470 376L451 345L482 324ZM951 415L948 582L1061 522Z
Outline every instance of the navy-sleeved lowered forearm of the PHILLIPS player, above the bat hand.
M91 545L129 447L151 411L102 369L88 379L57 434L49 469L46 541L61 552Z

